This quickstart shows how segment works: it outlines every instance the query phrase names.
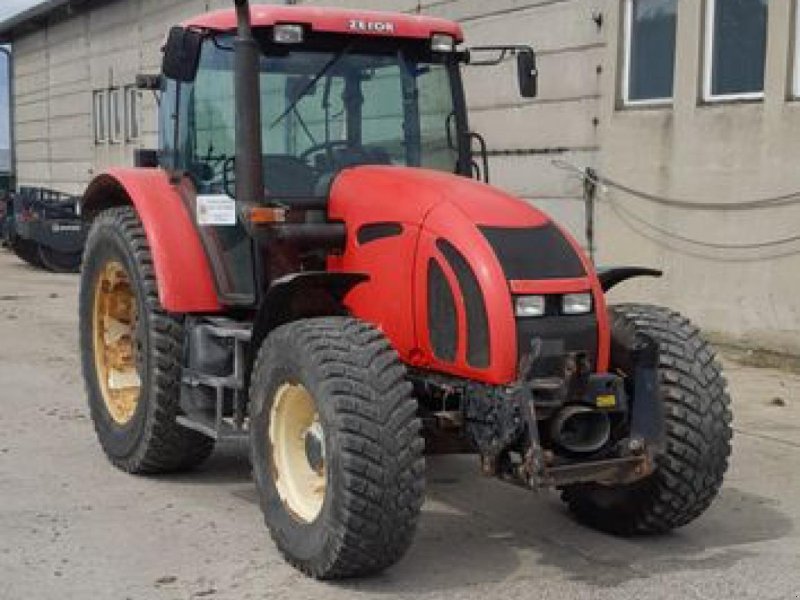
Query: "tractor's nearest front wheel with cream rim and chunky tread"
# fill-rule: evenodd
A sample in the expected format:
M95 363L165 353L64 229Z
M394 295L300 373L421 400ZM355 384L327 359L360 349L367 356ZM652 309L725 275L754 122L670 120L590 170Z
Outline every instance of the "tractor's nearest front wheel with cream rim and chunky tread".
M425 488L411 392L385 337L360 321L298 321L264 342L253 471L272 538L303 573L378 573L411 545Z

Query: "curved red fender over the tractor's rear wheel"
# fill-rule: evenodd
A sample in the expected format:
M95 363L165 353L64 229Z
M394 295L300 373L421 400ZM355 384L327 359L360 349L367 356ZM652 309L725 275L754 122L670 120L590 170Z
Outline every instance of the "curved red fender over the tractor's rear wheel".
M132 205L142 221L161 307L172 313L219 313L211 266L182 195L161 169L112 169L95 177L81 201L91 221L114 206Z

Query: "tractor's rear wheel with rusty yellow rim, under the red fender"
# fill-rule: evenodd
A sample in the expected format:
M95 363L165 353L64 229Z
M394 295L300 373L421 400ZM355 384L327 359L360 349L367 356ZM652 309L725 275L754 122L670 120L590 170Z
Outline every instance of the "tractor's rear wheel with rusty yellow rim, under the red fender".
M159 303L144 229L131 207L92 224L81 275L83 377L100 445L129 473L188 469L214 442L176 422L183 320Z

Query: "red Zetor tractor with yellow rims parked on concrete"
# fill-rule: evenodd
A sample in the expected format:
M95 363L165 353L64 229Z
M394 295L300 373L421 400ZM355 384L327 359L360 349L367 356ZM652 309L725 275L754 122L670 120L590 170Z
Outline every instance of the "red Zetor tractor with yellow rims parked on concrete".
M171 30L139 78L159 150L83 198L83 373L111 462L188 469L249 436L276 545L321 579L403 556L426 439L609 532L705 511L731 440L714 352L671 310L605 300L660 273L595 269L477 181L461 69L514 58L533 97L533 50L462 49L424 16L235 5Z

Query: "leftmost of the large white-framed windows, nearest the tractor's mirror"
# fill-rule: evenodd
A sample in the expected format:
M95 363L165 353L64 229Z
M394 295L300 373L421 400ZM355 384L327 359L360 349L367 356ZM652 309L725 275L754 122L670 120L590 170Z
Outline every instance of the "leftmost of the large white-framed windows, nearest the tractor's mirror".
M672 101L678 0L626 0L625 104Z

